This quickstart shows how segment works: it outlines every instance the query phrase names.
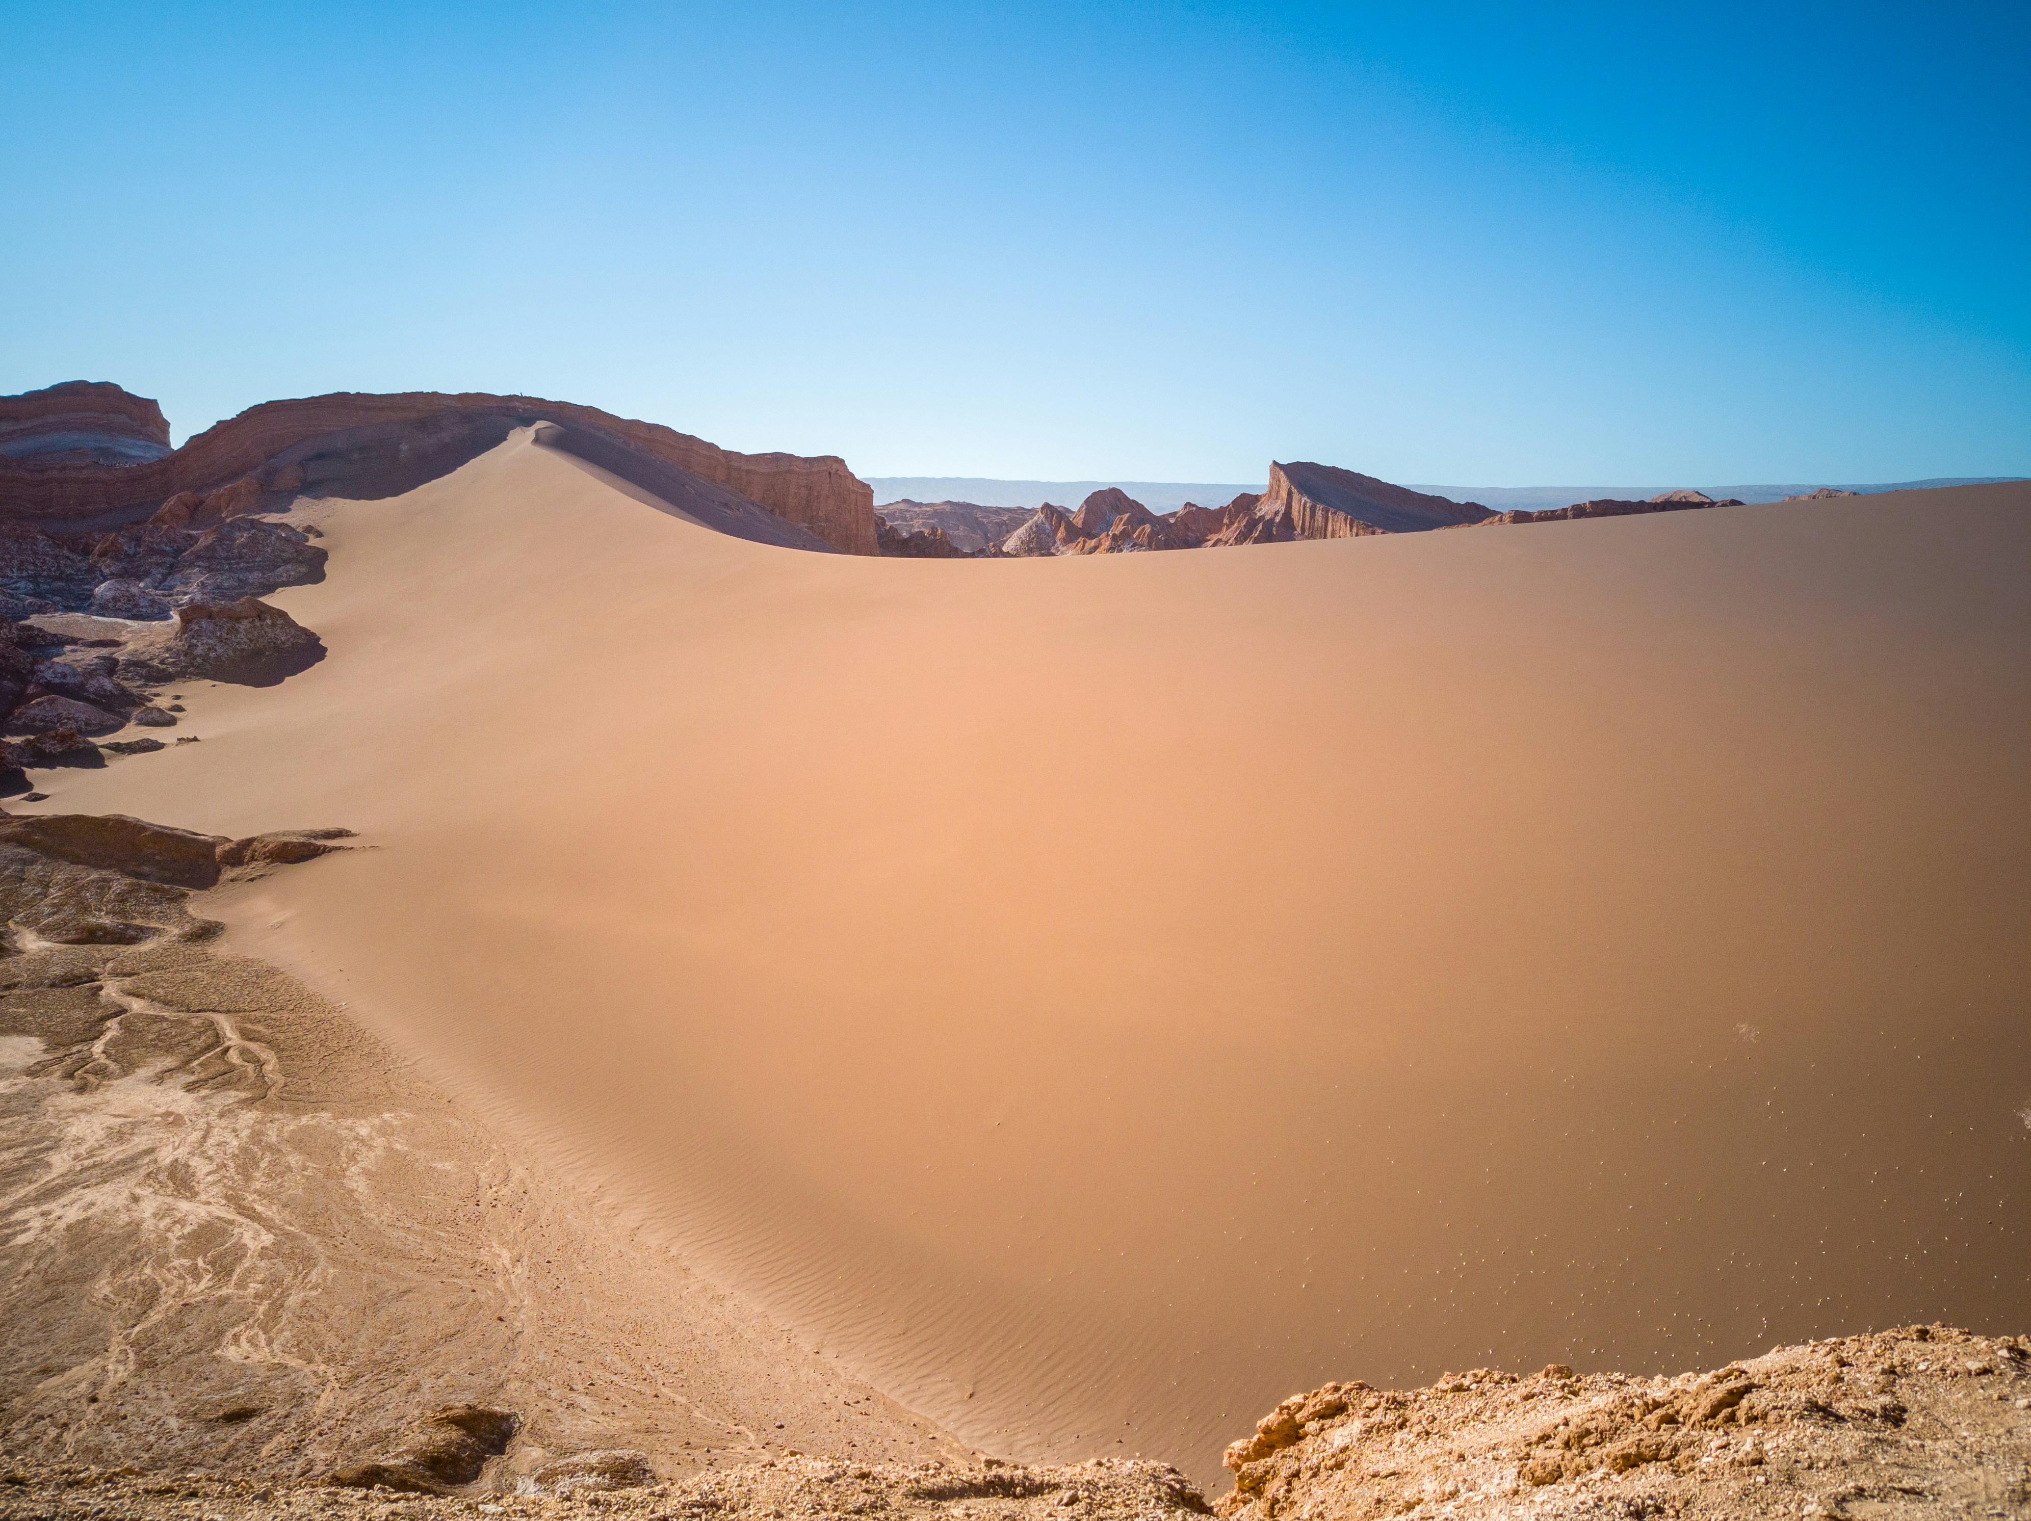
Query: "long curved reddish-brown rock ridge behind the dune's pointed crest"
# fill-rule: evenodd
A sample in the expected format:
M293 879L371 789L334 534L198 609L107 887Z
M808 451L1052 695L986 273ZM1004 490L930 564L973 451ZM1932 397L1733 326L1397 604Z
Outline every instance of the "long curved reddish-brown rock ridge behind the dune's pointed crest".
M0 459L0 512L45 526L116 526L185 493L209 500L246 479L278 493L392 495L463 465L512 428L538 422L565 424L567 439L581 431L595 447L617 447L723 485L831 548L877 552L873 491L843 459L743 455L593 406L483 392L337 392L262 402L171 455L114 469ZM595 463L611 469L603 459Z

